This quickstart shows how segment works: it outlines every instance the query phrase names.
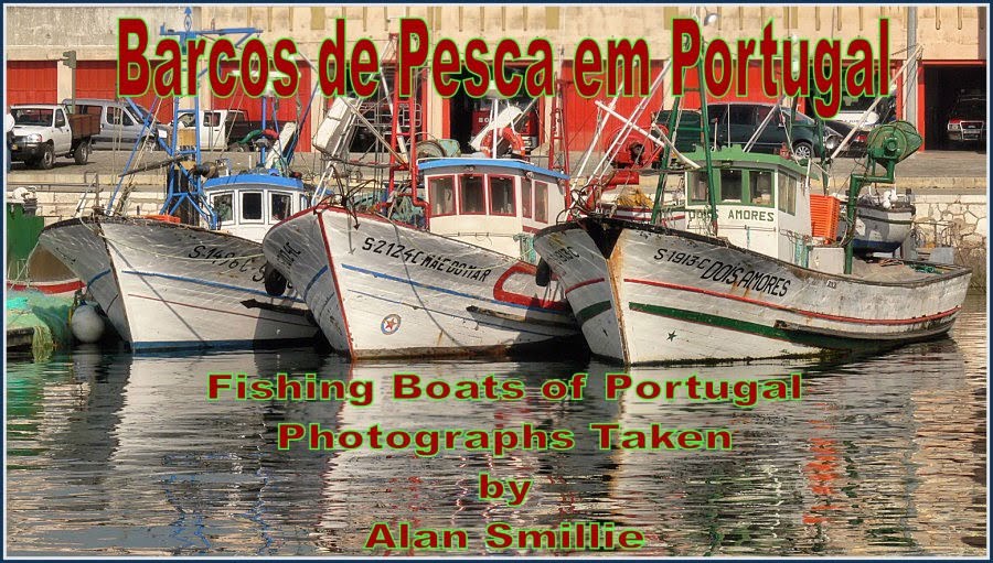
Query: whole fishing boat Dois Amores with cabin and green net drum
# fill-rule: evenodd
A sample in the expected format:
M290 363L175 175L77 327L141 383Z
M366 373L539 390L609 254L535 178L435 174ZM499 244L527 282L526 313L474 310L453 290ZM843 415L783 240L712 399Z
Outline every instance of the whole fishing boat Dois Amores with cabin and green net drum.
M891 184L920 143L906 122L873 130L867 172L850 181L850 224L862 187ZM708 149L685 155L695 163L681 172L685 230L586 215L535 235L594 354L624 364L823 356L952 326L969 269L856 257L851 237L825 245L812 232L807 163Z

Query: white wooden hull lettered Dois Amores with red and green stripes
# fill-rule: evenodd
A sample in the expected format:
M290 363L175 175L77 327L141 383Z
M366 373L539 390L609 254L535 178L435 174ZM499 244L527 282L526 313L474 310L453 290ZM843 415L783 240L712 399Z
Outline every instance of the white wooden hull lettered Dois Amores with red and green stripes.
M626 364L821 355L933 337L951 327L970 277L936 266L903 282L832 275L615 219L551 227L534 246L594 354Z

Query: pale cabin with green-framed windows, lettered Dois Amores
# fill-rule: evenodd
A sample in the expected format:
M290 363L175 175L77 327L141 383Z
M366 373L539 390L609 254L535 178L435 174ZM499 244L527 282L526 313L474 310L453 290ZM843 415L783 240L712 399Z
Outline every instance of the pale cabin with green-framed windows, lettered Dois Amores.
M730 243L807 266L811 242L807 169L777 154L730 147L712 153L717 235ZM703 164L701 152L686 153ZM711 216L704 169L686 172L687 229L706 234Z

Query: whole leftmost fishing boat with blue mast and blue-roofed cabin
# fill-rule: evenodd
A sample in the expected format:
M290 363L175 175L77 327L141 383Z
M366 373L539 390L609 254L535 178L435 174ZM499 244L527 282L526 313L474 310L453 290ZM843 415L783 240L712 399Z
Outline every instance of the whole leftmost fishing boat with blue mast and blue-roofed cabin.
M225 30L190 31L188 19L186 31L179 33ZM179 100L173 104L179 116ZM39 243L85 282L134 350L313 338L318 328L300 297L265 291L261 236L309 201L302 181L285 173L292 145L280 145L270 134L258 143L260 164L232 173L221 163L202 162L195 139L201 113L194 98L195 127L180 130L173 122L171 143L163 143L168 160L139 166L136 144L104 212L50 225ZM125 215L126 178L162 165L169 173L160 213Z

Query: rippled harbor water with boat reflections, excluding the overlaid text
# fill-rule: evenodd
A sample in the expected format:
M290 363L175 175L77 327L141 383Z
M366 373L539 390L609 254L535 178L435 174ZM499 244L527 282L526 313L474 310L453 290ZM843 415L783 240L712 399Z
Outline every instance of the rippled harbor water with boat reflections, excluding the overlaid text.
M949 338L823 366L764 361L637 368L664 379L738 381L803 373L796 401L608 400L596 361L372 362L310 348L132 356L94 348L8 358L7 518L11 555L362 555L376 522L466 530L613 522L644 534L628 554L980 555L986 544L986 302L970 296ZM664 337L664 336L663 336ZM209 401L209 373L279 372L372 381L348 401ZM394 373L519 379L523 400L383 397ZM587 372L581 400L536 392ZM279 424L324 430L569 430L563 451L278 447ZM725 427L724 451L598 447L589 425ZM520 506L481 500L479 476L533 479Z

